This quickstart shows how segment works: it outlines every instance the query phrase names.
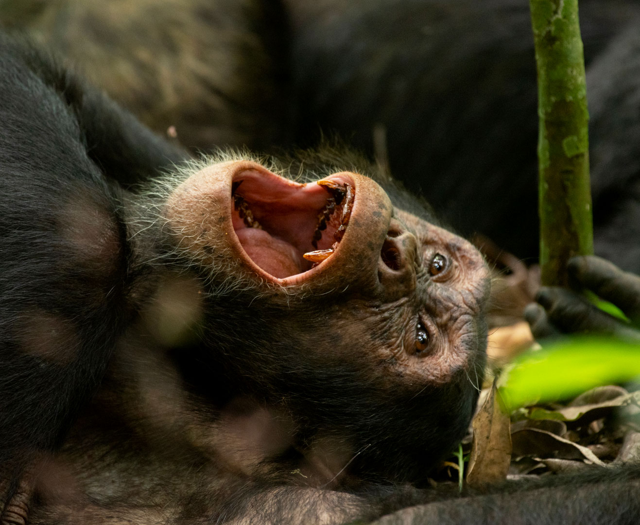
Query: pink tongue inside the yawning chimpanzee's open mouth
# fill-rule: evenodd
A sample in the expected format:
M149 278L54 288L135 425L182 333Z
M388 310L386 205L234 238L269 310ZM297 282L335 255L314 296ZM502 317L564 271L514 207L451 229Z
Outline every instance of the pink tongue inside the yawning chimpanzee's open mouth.
M240 244L262 270L278 279L301 273L303 261L292 245L257 228L236 230Z

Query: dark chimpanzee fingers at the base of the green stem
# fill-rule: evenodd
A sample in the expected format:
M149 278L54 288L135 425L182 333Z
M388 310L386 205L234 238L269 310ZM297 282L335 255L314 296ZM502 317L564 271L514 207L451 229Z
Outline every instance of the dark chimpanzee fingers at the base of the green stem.
M620 270L600 257L574 257L568 264L572 287L542 287L529 305L525 317L536 338L560 333L612 334L640 341L640 277ZM589 303L579 292L590 290L600 298L618 306L632 324L603 312Z

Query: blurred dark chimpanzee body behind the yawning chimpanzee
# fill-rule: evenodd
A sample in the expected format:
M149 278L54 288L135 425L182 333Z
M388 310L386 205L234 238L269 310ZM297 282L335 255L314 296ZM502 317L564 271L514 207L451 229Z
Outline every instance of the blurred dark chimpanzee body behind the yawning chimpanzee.
M639 17L580 0L596 253L636 272ZM4 0L0 22L188 147L339 133L463 234L538 253L527 0Z

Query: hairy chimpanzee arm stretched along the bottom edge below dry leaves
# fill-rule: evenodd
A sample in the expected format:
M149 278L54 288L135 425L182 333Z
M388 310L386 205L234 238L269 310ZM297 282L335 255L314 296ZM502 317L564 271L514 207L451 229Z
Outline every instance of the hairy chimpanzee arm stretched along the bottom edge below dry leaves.
M640 516L638 494L636 467L594 467L579 474L508 481L463 494L451 486L419 490L371 484L360 494L282 487L230 505L230 510L239 511L233 523L627 525Z

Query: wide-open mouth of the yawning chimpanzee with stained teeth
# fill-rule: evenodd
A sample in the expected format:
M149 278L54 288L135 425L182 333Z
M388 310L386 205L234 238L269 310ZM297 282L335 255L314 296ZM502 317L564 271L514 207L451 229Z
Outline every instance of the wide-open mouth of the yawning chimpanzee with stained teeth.
M276 279L311 270L339 249L355 202L346 175L300 184L244 170L232 181L232 222L246 255Z

